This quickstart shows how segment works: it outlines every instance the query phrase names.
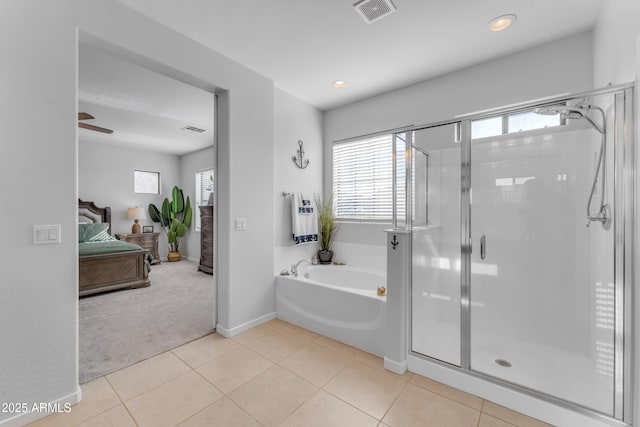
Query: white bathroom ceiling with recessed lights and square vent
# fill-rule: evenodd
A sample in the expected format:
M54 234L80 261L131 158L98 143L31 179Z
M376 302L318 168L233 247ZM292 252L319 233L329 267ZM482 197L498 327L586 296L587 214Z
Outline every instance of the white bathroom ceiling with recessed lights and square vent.
M326 110L591 29L601 0L119 0ZM501 33L487 23L513 13ZM334 80L348 82L343 89Z

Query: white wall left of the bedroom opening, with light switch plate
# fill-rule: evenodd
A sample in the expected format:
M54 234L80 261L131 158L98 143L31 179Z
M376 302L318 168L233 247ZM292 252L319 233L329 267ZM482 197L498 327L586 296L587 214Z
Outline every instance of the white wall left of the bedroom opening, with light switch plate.
M72 11L24 1L0 14L0 182L13 206L2 214L11 244L0 249L0 402L73 400L78 389ZM60 224L62 243L34 246L34 224Z

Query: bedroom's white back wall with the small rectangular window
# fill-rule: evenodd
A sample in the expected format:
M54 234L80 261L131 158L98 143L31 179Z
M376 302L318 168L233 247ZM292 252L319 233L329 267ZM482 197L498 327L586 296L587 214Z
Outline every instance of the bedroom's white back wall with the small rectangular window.
M133 171L160 172L160 194L138 194L133 191ZM78 141L78 197L100 207L111 207L111 233L131 233L133 220L127 208L141 207L147 219L141 225L153 225L160 233L158 251L167 257L167 237L160 224L149 218L149 203L158 208L165 197L171 198L174 185L180 186L180 158L172 154L135 150L117 145ZM193 230L191 230L193 231Z

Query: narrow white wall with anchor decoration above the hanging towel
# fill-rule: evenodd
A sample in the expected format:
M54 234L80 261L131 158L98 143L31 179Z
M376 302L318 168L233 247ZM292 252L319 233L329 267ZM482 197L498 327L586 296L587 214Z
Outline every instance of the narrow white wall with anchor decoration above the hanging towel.
M291 239L291 198L282 192L322 194L322 113L280 89L275 91L274 157L274 273L287 269L301 259L310 259L319 249L317 243L293 245ZM292 157L304 143L309 166L299 169Z

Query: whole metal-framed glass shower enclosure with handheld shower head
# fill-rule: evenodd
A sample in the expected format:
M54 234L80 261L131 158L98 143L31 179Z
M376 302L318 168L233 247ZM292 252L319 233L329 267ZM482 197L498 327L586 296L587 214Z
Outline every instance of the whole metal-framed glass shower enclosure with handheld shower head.
M621 86L402 132L414 355L629 422L632 105Z

